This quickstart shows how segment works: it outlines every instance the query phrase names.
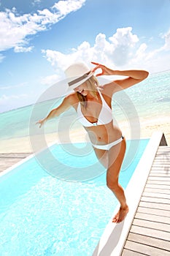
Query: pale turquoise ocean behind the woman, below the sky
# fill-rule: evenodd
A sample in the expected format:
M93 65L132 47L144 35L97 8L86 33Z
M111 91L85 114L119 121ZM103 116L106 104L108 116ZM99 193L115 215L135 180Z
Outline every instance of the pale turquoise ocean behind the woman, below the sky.
M0 114L1 140L62 132L65 129L81 129L74 109L63 113L61 117L50 120L45 130L39 129L36 121L47 116L56 108L62 99L49 99L23 108L10 110ZM168 120L170 112L170 70L149 75L141 83L116 93L112 99L112 111L115 122L140 126L142 122L160 122ZM125 125L126 125L125 124Z

